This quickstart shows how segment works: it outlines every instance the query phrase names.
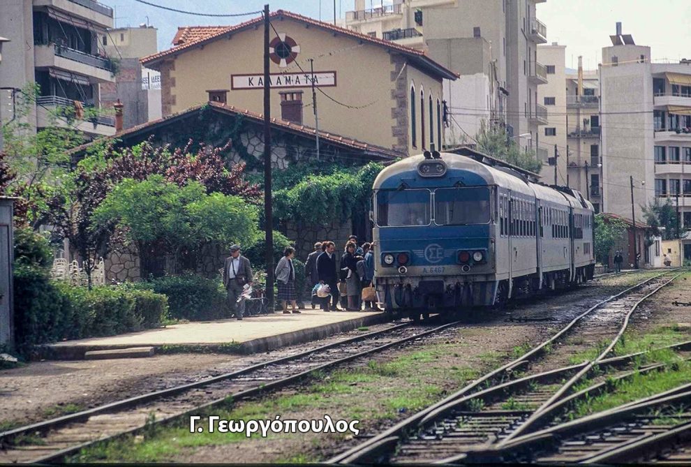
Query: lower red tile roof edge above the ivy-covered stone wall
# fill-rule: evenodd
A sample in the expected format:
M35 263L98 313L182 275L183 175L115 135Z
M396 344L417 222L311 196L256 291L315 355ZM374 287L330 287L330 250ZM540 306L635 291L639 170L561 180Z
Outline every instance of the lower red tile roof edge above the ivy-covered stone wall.
M239 109L236 108L232 105L223 105L221 103L217 102L208 102L205 104L200 104L200 105L195 105L194 107L188 108L187 110L183 110L181 112L177 112L175 114L170 114L166 117L163 117L162 119L158 120L153 120L149 121L145 124L141 124L138 126L133 126L132 128L128 128L124 131L120 131L119 133L115 133L115 135L108 136L105 138L101 138L99 140L89 142L87 144L82 144L81 146L77 146L74 149L69 151L69 154L72 156L75 156L77 154L81 154L82 152L86 151L89 149L91 144L94 144L97 141L103 141L103 140L117 140L119 138L123 138L128 135L134 135L135 133L140 133L142 131L147 131L155 128L156 126L161 126L162 124L165 124L166 122L170 120L177 119L179 117L184 117L186 114L191 114L192 112L198 112L201 110L205 105L209 105L212 109L217 110L218 112L222 112L225 114L230 114L230 115L242 115L243 117L247 119L251 119L254 121L257 121L258 123L264 122L264 115L263 114L258 114L256 112L251 112L250 110L246 109ZM294 124L290 121L285 121L281 119L276 119L272 118L271 119L272 127L277 128L277 129L283 129L285 131L290 131L292 133L299 133L302 135L306 135L308 137L314 137L317 131L314 128L311 128L309 126L304 126L304 125L298 125ZM326 131L319 131L319 138L321 141L326 141L329 144L335 144L336 146L340 147L347 147L348 149L357 149L358 151L363 151L363 153L368 153L368 154L363 154L363 155L369 155L373 157L378 157L382 159L394 159L394 158L399 158L399 157L405 157L406 154L403 154L399 151L395 151L394 149L388 149L385 147L381 146L376 146L375 144L368 144L366 142L358 141L358 140L353 140L352 138L347 138L345 136L341 135L336 135L334 133L328 133Z

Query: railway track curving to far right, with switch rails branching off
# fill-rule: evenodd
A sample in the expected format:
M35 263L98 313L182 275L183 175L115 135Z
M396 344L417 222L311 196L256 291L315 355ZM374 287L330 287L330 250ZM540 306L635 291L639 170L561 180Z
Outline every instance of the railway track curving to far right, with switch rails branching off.
M577 381L597 364L607 363L607 354L639 304L681 275L669 279L670 273L598 302L513 362L329 462L456 461L480 445L509 443L521 434L540 429L555 416L555 408L563 407L560 401L567 399ZM600 349L595 359L570 364L574 355L592 348ZM625 376L623 371L619 376ZM525 373L533 376L517 378Z

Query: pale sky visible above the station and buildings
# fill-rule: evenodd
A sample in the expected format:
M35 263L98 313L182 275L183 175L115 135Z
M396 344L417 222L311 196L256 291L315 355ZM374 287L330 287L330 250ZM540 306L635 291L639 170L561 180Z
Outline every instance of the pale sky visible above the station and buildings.
M266 0L147 0L149 3L199 13L246 13L264 8ZM463 1L463 0L459 0ZM115 9L117 27L153 24L158 28L158 49L171 47L178 26L236 24L256 14L242 17L203 17L161 10L135 0L101 0ZM369 7L369 1L366 1ZM379 3L374 1L374 3ZM391 0L385 1L391 3ZM332 0L276 0L271 10L290 10L333 21ZM354 0L336 0L339 17L352 10ZM148 16L148 19L147 19ZM537 4L537 18L547 25L547 40L566 45L566 66L575 68L583 56L586 69L595 69L602 57L602 47L611 45L617 21L623 34L632 34L637 45L649 45L653 61L691 59L691 0L548 0Z

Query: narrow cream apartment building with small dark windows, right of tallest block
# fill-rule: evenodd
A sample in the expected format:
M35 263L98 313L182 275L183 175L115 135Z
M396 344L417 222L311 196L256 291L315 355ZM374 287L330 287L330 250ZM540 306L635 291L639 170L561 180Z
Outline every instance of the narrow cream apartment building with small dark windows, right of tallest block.
M548 118L547 124L540 126L535 134L536 154L542 161L542 181L564 186L570 184L567 165L572 162L567 153L565 54L565 45L551 43L537 47L537 61L544 64L547 75L547 84L537 89L537 103L547 108Z

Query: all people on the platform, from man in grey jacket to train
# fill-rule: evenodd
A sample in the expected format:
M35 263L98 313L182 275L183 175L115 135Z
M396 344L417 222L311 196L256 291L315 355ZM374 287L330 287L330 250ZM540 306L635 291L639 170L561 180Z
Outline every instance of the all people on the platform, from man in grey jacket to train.
M245 300L242 297L252 285L253 279L250 262L240 253L239 245L231 246L230 256L223 265L223 286L228 291L228 307L237 320L242 320L244 316ZM281 301L285 314L290 314L291 311L300 313L297 306L293 258L295 249L288 246L274 271L278 288L277 299ZM359 311L363 303L366 310L380 311L376 301L362 300L362 290L369 288L374 278L373 243L357 246L357 237L350 235L339 260L334 242L317 242L314 244L314 251L307 256L305 274L309 284L329 286L330 292L327 297L312 296L312 304L320 304L320 309L324 311ZM288 311L288 305L291 311Z

